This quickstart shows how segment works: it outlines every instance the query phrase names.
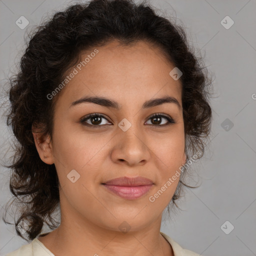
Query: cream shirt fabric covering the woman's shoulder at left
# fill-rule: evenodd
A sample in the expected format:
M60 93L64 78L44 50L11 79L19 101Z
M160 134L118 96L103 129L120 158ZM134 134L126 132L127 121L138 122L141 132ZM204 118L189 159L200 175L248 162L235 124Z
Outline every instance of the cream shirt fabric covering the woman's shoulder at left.
M5 256L54 256L37 238Z

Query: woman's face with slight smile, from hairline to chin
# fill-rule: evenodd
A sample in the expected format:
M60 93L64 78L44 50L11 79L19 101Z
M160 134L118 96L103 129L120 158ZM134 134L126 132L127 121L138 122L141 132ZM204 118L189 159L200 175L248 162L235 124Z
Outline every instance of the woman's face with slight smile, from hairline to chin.
M111 41L97 50L62 88L52 143L36 147L44 162L55 164L63 214L111 230L126 221L138 230L161 216L185 162L181 83L169 75L174 65L146 42ZM80 100L90 96L115 104ZM163 97L170 100L152 101ZM141 176L152 185L104 185L123 176Z

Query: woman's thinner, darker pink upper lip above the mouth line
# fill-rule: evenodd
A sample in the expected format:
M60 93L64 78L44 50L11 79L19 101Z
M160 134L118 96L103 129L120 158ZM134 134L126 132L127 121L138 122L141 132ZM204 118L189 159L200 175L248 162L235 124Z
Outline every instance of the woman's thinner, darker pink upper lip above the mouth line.
M107 180L102 184L116 185L116 186L142 186L142 185L152 185L153 181L142 176L137 176L137 177L124 176L124 177L118 177L118 178Z

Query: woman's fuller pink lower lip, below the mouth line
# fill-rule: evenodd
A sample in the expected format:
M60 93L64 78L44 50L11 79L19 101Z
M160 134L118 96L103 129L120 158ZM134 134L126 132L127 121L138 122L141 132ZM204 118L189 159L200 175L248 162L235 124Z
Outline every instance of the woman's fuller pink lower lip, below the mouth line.
M142 186L116 186L103 184L103 186L122 198L136 199L146 194L152 187L152 184Z

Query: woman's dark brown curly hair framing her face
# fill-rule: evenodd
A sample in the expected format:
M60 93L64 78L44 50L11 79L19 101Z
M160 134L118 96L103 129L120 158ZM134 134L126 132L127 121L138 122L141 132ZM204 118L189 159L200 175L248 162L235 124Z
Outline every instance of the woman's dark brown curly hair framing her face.
M52 217L59 205L56 168L40 159L32 124L42 134L40 141L47 134L52 139L54 106L61 91L52 100L47 99L47 94L63 81L67 70L78 63L81 51L103 46L113 39L123 45L143 40L158 46L182 72L179 79L187 160L198 151L197 158L203 155L212 118L208 71L202 57L196 57L189 47L184 28L157 15L145 0L137 4L133 0L91 0L72 4L55 12L26 38L19 70L8 78L10 104L6 123L11 125L16 141L13 142L12 164L4 165L11 168L12 202L17 201L20 205L19 218L14 222L17 235L23 239L35 238L44 223L51 229L59 224ZM183 186L193 187L184 182L185 173L186 169L170 201L174 205ZM4 218L3 221L11 224ZM21 221L28 224L27 236L17 228Z

